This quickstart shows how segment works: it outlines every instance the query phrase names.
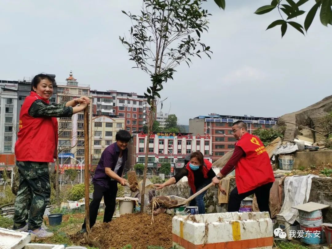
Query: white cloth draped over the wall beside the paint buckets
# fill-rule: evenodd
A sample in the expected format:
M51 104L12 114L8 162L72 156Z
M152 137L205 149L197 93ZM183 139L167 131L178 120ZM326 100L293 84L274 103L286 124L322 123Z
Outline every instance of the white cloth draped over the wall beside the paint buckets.
M298 210L292 207L308 202L312 178L319 178L319 176L310 174L306 176L290 176L285 179L285 199L279 215L284 216L285 220L290 224L294 223L298 215Z

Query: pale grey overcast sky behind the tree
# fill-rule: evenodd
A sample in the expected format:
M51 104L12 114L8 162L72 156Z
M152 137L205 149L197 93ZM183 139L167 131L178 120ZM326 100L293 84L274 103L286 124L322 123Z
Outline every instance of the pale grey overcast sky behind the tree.
M139 14L141 2L1 0L0 79L46 72L65 82L72 70L91 89L143 94L149 76L131 69L119 40L131 24L121 10ZM168 97L163 112L176 114L181 124L208 113L278 117L331 94L332 27L316 16L306 37L289 27L281 39L280 28L265 31L277 13L253 14L270 2L226 0L222 11L208 0L212 16L202 41L212 59L176 68L161 92Z

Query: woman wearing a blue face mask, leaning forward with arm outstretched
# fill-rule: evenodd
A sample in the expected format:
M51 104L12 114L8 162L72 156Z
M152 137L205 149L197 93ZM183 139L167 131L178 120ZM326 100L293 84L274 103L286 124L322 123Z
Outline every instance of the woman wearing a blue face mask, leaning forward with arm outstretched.
M184 166L175 176L167 180L163 184L155 184L157 189L162 189L166 186L177 183L182 177L188 177L188 184L190 186L190 195L195 194L197 191L203 189L209 183L212 178L215 177L215 173L212 170L212 163L203 158L203 154L199 151L190 155L190 161ZM199 214L205 213L204 196L207 191L197 196L190 202L190 206L197 206Z

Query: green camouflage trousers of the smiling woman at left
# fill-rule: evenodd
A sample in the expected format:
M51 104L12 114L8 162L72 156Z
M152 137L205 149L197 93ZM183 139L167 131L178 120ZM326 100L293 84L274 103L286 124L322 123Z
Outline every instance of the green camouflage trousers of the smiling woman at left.
M41 227L43 214L51 195L48 163L20 162L20 185L15 199L14 229L25 226L29 229Z

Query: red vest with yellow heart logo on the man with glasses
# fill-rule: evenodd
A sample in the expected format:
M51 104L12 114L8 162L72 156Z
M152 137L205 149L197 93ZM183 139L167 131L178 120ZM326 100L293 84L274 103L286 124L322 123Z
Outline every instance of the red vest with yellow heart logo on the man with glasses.
M239 194L275 181L269 155L257 136L245 133L235 145L246 153L235 167L235 182Z

